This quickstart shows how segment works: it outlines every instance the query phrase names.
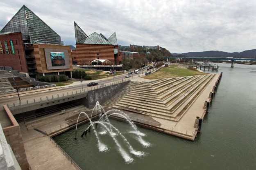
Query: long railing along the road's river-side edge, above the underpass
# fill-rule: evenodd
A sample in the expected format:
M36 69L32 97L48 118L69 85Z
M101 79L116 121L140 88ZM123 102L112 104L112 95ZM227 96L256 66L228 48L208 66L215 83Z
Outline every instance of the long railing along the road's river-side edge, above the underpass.
M47 100L50 100L50 99L57 99L59 97L72 96L72 95L77 95L79 93L87 93L88 91L103 88L103 87L106 87L106 86L112 86L114 84L119 84L119 83L127 82L127 81L130 81L130 79L125 79L125 80L118 81L118 82L115 82L115 83L104 84L104 86L96 86L96 88L94 86L94 87L91 87L91 90L89 88L87 88L87 90L83 89L83 90L79 90L79 91L71 91L71 92L62 93L62 94L58 94L58 95L52 95L52 96L40 97L40 98L32 99L32 100L25 100L25 101L21 101L21 102L15 102L15 103L7 104L7 106L9 108L13 108L13 107L16 107L16 106L33 104L33 103L37 103L37 102L47 101Z

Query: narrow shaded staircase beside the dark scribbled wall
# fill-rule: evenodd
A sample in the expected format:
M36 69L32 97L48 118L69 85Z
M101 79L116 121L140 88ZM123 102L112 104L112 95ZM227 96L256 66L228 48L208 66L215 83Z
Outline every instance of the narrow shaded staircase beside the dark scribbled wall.
M125 87L123 87L118 93L113 95L110 99L102 104L102 106L112 108L114 104L119 102L125 95L127 95L131 90L136 88L140 82L130 81Z

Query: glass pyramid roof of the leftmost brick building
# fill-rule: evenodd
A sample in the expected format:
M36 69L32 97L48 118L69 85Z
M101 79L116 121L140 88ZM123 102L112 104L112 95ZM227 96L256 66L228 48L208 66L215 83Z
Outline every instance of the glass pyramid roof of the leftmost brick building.
M21 32L31 44L62 44L61 37L25 5L14 15L0 33Z

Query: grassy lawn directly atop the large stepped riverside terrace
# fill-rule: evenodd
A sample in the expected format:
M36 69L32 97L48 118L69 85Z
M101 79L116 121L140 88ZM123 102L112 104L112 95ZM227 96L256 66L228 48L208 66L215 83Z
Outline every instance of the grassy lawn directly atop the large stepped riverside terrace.
M163 67L159 69L157 72L144 76L145 79L163 79L163 78L171 78L171 77L184 77L191 75L204 75L208 73L197 71L196 69L183 69L177 68L175 66Z

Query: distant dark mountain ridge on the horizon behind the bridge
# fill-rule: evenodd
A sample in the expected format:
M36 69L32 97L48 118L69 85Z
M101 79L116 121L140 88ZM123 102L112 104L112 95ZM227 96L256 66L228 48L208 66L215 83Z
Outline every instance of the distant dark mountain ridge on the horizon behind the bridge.
M256 49L246 50L240 53L228 53L224 51L202 51L202 52L188 52L188 53L172 53L173 56L186 57L234 57L234 58L255 58Z

